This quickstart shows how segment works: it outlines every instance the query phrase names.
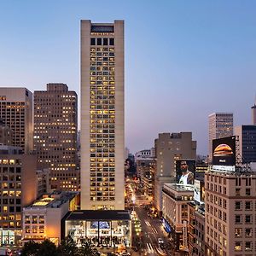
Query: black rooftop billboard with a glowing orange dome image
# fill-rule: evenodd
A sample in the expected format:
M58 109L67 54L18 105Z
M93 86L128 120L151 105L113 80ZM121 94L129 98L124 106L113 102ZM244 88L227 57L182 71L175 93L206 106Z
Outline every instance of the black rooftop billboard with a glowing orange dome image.
M212 140L212 165L236 166L236 137Z

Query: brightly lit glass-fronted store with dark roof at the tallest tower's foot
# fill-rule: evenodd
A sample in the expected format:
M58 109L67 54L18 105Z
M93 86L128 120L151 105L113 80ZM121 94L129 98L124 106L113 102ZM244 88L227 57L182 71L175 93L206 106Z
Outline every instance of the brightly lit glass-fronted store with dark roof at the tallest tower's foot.
M64 236L78 246L84 241L97 247L131 247L131 216L128 211L75 211L62 220Z

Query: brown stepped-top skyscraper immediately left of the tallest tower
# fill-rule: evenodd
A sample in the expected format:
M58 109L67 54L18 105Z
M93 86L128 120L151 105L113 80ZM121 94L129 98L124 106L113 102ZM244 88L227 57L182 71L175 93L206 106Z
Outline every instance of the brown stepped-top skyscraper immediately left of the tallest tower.
M34 92L34 147L38 168L49 168L51 189L77 190L78 96L67 84Z

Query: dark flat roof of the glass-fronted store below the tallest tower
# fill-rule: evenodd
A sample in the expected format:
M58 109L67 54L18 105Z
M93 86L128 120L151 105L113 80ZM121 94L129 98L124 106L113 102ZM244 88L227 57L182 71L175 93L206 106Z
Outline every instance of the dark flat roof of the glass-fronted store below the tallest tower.
M131 220L125 210L78 210L69 212L65 220Z

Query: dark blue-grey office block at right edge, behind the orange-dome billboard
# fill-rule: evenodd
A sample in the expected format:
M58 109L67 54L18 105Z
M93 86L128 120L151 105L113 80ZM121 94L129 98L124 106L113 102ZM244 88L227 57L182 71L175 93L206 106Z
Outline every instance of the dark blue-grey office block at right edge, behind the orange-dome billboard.
M256 125L236 126L234 135L239 137L241 162L243 164L256 162Z

